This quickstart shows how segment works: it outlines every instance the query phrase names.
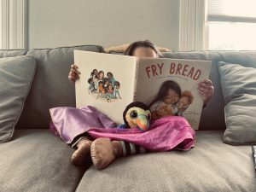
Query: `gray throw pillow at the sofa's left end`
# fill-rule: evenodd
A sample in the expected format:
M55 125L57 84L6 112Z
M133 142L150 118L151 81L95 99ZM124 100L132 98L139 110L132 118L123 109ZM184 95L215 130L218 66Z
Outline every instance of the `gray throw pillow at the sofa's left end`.
M0 59L0 143L13 136L35 71L32 56Z

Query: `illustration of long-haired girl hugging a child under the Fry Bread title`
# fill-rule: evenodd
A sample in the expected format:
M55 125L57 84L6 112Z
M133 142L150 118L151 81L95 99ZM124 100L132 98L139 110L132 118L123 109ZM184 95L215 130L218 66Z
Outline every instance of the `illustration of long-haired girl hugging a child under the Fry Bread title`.
M152 119L160 119L164 116L183 116L183 112L189 108L194 96L189 90L182 92L176 81L166 80L160 85L158 93L148 106L152 113Z

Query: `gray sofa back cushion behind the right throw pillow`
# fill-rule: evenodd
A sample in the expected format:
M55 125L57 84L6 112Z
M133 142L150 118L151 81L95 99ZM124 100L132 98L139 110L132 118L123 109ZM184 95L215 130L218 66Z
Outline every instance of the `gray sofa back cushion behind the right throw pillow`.
M212 61L210 78L215 88L211 101L202 111L200 130L225 129L224 96L218 73L218 61L241 63L244 67L256 68L256 51L191 51L163 53L167 58Z

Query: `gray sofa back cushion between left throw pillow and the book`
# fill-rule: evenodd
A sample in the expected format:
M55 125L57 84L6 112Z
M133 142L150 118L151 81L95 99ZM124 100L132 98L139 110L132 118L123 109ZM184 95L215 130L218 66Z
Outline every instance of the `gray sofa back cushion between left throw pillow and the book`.
M96 45L32 49L27 52L36 59L38 66L17 127L48 127L49 108L75 107L74 84L67 79L74 49L103 52L102 47Z

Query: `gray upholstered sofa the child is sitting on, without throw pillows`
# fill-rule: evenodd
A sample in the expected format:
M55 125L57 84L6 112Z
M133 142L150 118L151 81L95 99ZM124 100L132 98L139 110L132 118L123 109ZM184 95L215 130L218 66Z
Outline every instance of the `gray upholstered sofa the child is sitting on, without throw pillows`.
M98 171L70 162L73 148L49 131L49 108L75 107L74 85L67 79L73 49L103 52L86 45L57 49L2 50L0 57L31 55L37 70L15 135L0 143L0 191L256 191L251 146L224 143L224 96L218 61L256 67L256 51L164 53L170 58L212 61L215 94L201 117L195 148L120 158Z

